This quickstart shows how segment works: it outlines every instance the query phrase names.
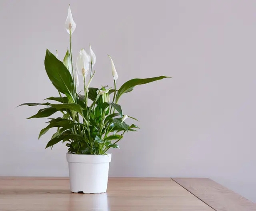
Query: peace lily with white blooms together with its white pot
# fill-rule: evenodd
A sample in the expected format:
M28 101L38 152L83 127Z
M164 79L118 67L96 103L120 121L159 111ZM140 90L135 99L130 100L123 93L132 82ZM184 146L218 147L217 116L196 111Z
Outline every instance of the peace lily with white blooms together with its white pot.
M112 75L114 89L108 87L90 87L95 71L95 54L90 46L89 54L81 49L76 69L73 67L71 36L75 30L75 22L68 8L68 17L65 22L70 36L70 46L63 61L58 60L49 50L45 55L45 70L53 86L58 90L58 97L48 97L44 103L24 103L21 105L43 105L37 114L29 117L48 117L47 127L40 131L39 138L51 128L57 131L53 134L45 148L53 147L62 141L68 147L67 161L70 175L70 191L83 193L106 192L108 183L108 168L111 161L110 148L118 148L125 132L136 131L135 124L128 125L125 119L132 118L123 114L118 104L120 97L131 92L140 84L167 78L159 76L145 79L131 79L117 89L118 74L113 60ZM78 74L83 76L83 93L79 94ZM49 118L58 112L60 117Z

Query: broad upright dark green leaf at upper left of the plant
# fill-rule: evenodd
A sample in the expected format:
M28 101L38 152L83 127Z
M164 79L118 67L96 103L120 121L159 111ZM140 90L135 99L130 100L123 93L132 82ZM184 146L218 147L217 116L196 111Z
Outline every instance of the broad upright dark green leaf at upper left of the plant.
M75 102L75 87L72 76L63 62L58 60L49 50L45 54L45 70L50 79L61 93L69 95Z

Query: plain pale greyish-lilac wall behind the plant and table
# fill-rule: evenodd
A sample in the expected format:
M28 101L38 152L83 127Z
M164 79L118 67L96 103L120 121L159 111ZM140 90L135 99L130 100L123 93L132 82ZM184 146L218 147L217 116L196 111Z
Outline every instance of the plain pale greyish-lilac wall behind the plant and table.
M1 0L0 176L68 176L65 146L44 149L38 108L57 96L46 48L68 47L67 0ZM113 150L110 176L209 177L256 202L256 1L70 0L73 52L97 56L93 86L172 76L123 96L140 120ZM82 87L80 87L82 89Z

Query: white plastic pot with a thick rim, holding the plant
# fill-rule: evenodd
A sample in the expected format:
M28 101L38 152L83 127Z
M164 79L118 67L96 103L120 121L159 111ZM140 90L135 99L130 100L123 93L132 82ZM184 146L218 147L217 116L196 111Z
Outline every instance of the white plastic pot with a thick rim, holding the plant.
M108 169L111 155L67 153L70 191L84 194L105 193L108 186Z

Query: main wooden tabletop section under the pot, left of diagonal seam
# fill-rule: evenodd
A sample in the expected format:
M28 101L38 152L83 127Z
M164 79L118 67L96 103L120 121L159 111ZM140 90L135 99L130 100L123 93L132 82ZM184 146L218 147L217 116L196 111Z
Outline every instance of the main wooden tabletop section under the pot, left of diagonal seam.
M0 211L212 211L170 178L112 178L104 194L74 194L65 178L0 178Z

